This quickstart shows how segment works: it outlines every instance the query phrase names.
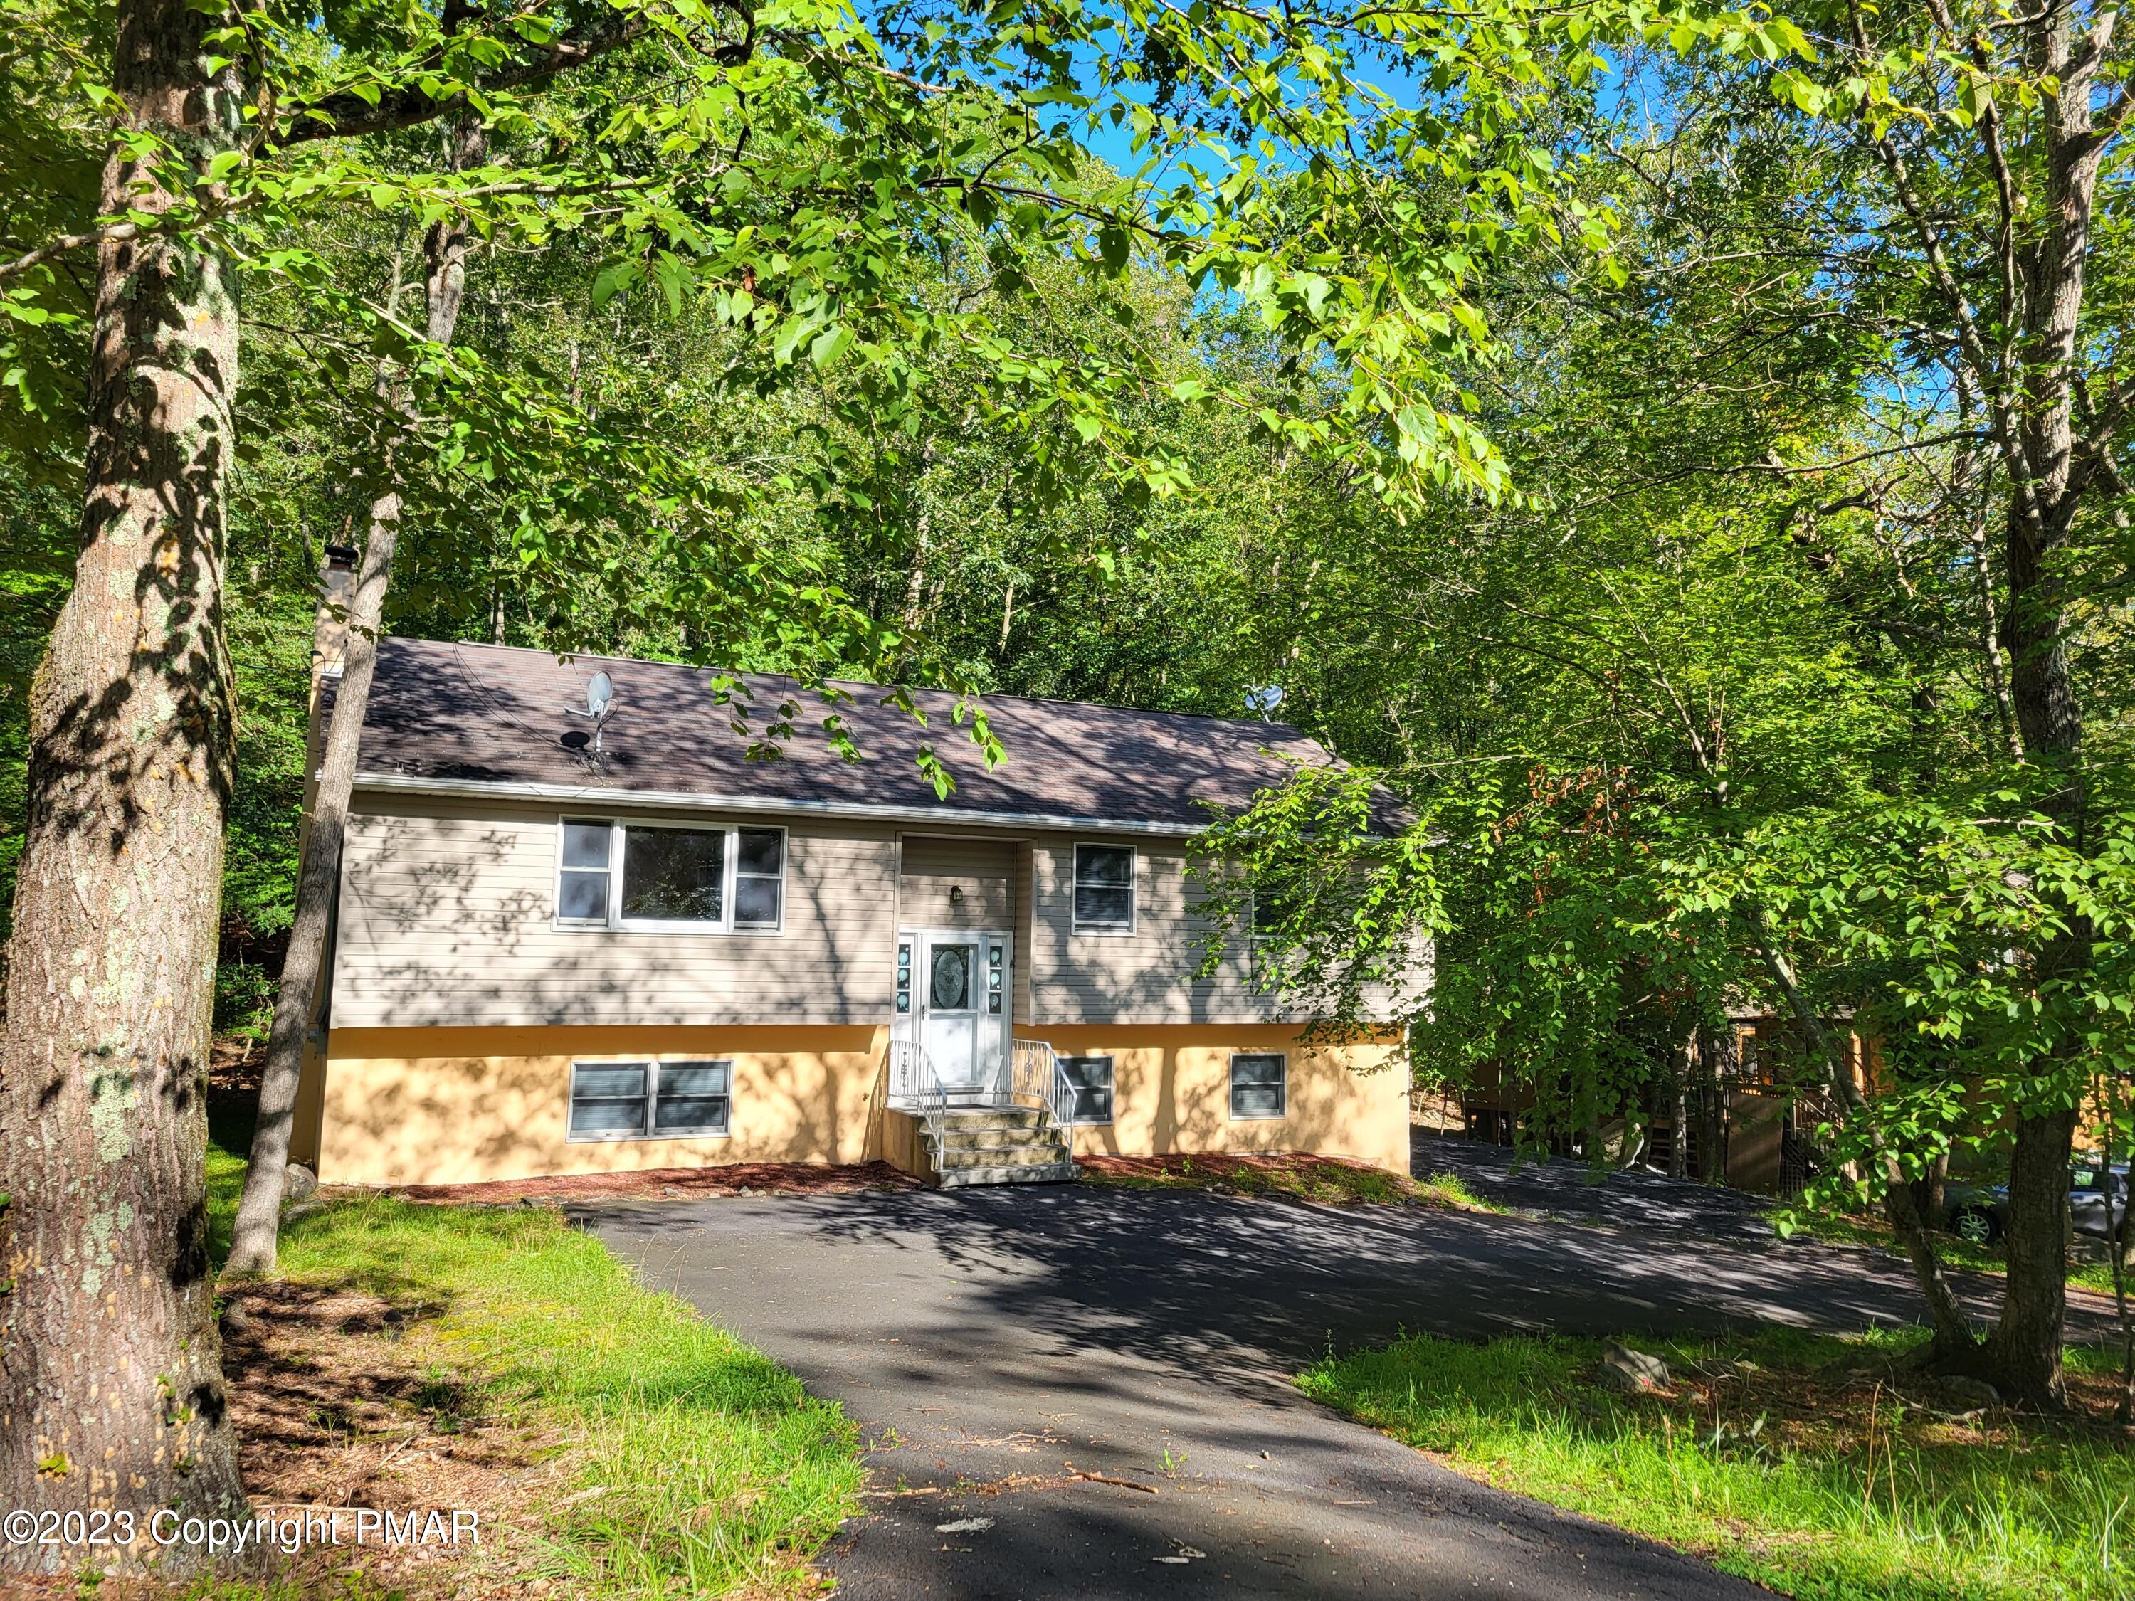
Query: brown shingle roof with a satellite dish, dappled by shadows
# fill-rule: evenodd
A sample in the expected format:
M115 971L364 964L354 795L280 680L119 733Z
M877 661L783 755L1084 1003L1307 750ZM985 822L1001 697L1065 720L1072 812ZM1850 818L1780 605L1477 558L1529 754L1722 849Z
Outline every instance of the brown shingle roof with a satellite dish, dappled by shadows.
M596 670L615 681L600 768L583 745ZM820 728L831 711L792 679L743 675L749 700L719 704L700 668L621 657L557 662L547 651L389 638L363 719L359 781L410 786L538 786L626 794L719 796L771 807L890 807L1016 815L1063 824L1191 828L1211 805L1245 805L1283 781L1281 756L1324 764L1324 747L1285 724L1125 711L1076 700L986 696L1008 760L986 771L954 696L914 694L922 730L880 685L843 683L837 707L865 760L843 760ZM779 707L798 711L775 760L749 760ZM732 724L747 722L749 732ZM572 739L572 743L566 743ZM944 798L914 762L931 739L956 788Z

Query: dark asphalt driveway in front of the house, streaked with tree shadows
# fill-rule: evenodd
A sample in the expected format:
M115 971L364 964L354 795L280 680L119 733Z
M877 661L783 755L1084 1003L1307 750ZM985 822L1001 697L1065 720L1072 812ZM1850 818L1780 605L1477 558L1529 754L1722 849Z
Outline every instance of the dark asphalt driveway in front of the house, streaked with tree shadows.
M856 1601L1766 1597L1292 1377L1403 1328L1853 1332L1915 1304L1860 1251L1091 1185L572 1210L865 1430L873 1511L828 1558Z

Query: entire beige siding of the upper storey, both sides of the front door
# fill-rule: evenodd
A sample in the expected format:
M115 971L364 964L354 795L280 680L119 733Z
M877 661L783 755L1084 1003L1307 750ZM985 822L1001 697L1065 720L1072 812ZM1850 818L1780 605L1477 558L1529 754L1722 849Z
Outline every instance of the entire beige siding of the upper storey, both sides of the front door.
M788 830L784 933L690 935L557 929L557 807L357 805L335 1027L888 1023L899 926L1012 931L1012 1005L1027 1027L1302 1020L1253 995L1236 937L1213 976L1193 978L1208 924L1185 847L1168 841L1132 841L1134 933L1078 935L1065 837L899 841L888 826L801 824ZM1418 954L1428 984L1430 952Z

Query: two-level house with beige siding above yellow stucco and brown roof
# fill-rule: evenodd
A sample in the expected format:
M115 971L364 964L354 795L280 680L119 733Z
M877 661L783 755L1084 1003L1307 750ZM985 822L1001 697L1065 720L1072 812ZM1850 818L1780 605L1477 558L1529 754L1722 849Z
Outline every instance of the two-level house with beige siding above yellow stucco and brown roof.
M792 681L722 704L687 666L384 640L292 1155L350 1185L873 1159L954 1185L1100 1151L1407 1172L1392 1035L1302 1040L1249 939L1196 973L1187 843L1324 749L991 698L986 771L952 696L916 696L922 728L843 689L860 760Z

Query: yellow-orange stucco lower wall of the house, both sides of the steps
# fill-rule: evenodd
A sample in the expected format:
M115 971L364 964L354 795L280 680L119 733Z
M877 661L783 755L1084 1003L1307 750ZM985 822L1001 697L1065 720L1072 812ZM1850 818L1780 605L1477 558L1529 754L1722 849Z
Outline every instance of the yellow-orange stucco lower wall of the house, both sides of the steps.
M1409 1170L1405 1076L1386 1044L1300 1046L1290 1025L1018 1029L1061 1055L1112 1057L1114 1121L1076 1129L1078 1153L1309 1151ZM1285 1050L1287 1112L1230 1116L1230 1055ZM574 1059L734 1063L730 1134L587 1140L568 1134ZM329 1185L465 1185L493 1178L856 1163L888 1151L888 1027L335 1029L299 1095ZM1375 1072L1373 1072L1375 1069ZM316 1108L316 1123L312 1123ZM892 1136L895 1140L895 1136Z

